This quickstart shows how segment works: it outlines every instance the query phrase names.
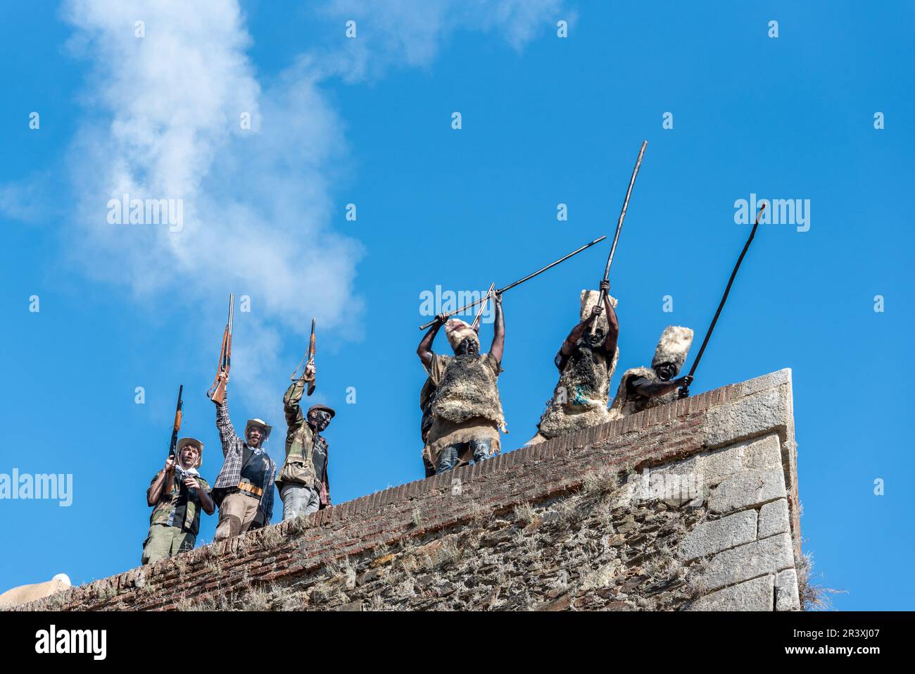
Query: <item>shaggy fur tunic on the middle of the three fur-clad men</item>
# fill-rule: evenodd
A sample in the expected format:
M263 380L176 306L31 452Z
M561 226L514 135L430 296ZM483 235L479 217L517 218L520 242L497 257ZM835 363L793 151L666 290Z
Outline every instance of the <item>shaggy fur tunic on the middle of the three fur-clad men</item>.
M544 438L555 438L610 420L607 410L610 378L618 359L619 349L610 362L602 348L591 349L584 340L578 342L540 419L538 428Z

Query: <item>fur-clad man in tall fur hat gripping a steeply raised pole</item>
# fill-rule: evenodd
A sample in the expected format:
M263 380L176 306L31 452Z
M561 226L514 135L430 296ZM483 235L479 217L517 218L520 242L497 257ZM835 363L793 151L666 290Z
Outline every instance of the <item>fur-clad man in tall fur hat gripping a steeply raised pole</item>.
M603 307L597 303L600 291L581 291L581 322L556 353L559 383L529 445L610 420L607 406L610 378L619 360L619 321L614 310L617 300L608 293L609 282L601 282L600 288ZM597 328L591 334L595 321Z

